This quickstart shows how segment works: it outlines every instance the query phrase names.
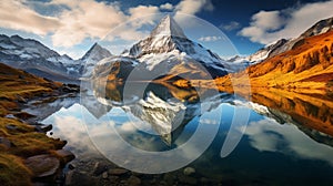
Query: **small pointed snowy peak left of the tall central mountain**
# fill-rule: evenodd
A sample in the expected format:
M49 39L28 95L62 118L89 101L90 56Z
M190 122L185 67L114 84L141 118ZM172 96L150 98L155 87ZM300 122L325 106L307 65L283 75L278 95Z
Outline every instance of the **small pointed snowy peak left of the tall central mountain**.
M93 70L93 66L97 62L101 61L102 59L112 56L111 52L100 44L94 43L89 51L80 59L81 64L84 65L82 76L87 78L90 76Z

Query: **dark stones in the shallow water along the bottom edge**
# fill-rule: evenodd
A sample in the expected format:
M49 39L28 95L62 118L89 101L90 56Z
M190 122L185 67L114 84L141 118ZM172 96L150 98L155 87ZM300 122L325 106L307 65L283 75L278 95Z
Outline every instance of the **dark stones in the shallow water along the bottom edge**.
M184 167L164 174L134 173L111 163L102 155L80 157L72 161L65 173L68 186L174 186L174 185L224 185L226 180L210 179L195 172L194 167Z

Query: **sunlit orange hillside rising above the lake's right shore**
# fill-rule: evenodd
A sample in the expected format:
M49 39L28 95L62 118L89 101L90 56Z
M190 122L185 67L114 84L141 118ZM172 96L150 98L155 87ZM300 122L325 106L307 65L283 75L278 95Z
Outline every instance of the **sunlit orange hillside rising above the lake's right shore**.
M333 31L305 38L290 51L275 55L245 71L215 79L221 91L231 86L279 87L293 92L321 93L332 91ZM230 80L233 80L231 84Z

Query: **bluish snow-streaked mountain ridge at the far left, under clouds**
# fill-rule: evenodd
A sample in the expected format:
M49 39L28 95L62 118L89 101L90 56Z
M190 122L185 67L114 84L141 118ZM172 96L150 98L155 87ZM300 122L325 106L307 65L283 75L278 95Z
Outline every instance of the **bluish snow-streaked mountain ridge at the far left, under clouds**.
M72 81L80 75L80 63L60 55L39 41L19 35L0 35L0 60L13 68L58 81Z

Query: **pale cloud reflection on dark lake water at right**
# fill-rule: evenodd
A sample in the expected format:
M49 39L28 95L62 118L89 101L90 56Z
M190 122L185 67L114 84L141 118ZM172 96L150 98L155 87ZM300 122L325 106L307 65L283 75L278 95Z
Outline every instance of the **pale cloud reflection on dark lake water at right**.
M319 144L292 124L265 118L251 122L245 131L250 144L261 152L283 153L297 158L320 159L333 165L331 146ZM330 137L332 140L332 137Z

